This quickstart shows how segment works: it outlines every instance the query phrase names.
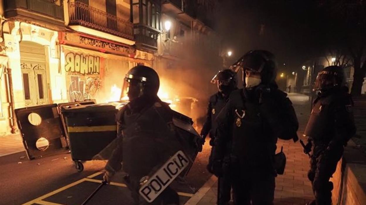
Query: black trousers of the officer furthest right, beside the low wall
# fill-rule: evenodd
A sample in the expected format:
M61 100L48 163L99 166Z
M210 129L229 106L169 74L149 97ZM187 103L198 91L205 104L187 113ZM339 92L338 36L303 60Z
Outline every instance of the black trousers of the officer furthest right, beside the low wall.
M329 182L329 179L336 171L343 151L342 144L331 148L325 145L313 145L308 178L311 181L317 205L332 204L333 183Z

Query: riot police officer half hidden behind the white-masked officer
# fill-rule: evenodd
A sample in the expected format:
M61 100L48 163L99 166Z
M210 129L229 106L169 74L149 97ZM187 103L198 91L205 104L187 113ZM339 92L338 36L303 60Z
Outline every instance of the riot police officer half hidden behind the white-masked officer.
M238 89L238 79L236 77L236 73L230 69L221 70L216 75L217 88L219 91L210 97L210 101L207 108L207 117L206 121L203 124L201 130L202 139L205 139L206 136L210 135L210 145L213 146L215 139L215 131L216 131L216 116L220 113L221 109L224 107L227 102L229 95L232 91ZM211 155L209 157L209 164L207 166L209 172L212 173L211 170L211 162L212 162L212 150ZM225 174L219 178L219 198L218 204L227 204L231 198L231 179L230 174Z

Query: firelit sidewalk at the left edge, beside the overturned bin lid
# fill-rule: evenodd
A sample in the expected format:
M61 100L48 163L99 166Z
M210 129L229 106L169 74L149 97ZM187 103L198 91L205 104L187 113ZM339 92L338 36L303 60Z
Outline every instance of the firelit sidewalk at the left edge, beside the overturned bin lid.
M25 151L20 134L0 136L0 157Z

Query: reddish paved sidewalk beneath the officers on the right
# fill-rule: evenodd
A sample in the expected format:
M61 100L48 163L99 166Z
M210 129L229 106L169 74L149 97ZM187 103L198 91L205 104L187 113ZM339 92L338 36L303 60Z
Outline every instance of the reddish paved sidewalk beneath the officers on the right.
M275 205L303 205L313 199L310 181L307 179L309 157L303 153L299 142L279 140L277 152L283 146L287 162L284 175L276 177ZM215 205L217 199L217 178L212 177L186 205Z

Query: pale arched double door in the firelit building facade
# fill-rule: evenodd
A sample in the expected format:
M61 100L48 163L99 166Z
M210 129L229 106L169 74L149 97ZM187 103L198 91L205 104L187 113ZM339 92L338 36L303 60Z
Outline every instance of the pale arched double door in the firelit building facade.
M20 43L25 106L48 104L45 48L31 41Z

